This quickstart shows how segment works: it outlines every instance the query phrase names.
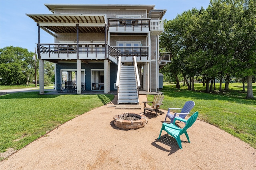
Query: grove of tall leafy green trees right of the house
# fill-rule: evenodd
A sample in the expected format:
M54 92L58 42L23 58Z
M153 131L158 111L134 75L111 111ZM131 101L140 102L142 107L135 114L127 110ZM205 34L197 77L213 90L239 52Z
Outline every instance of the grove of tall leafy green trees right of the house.
M230 77L239 76L247 78L246 98L254 98L255 37L255 0L210 0L206 10L192 9L165 20L160 47L172 52L177 69L169 70L173 75L182 74L188 89L193 89L194 76L203 76L206 92L213 91L216 77L225 79L228 90Z

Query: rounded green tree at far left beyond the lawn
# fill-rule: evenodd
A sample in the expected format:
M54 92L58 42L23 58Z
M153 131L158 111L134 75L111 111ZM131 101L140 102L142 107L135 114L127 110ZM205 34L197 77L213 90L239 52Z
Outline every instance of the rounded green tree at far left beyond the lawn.
M33 55L33 52L21 47L10 46L0 49L0 84L26 84Z

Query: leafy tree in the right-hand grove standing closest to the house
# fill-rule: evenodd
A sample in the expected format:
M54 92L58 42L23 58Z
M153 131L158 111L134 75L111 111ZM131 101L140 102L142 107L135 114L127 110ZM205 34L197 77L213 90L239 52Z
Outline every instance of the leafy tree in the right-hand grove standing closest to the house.
M164 24L164 32L160 37L160 47L165 48L168 52L172 52L172 75L178 78L178 74L182 74L184 81L188 86L188 90L194 90L194 81L188 83L188 78L194 80L197 71L193 64L196 61L195 53L198 51L198 35L200 31L198 27L198 17L204 10L188 10L178 15L174 20L166 21ZM174 70L173 68L177 68ZM178 81L177 81L178 82ZM192 84L191 84L192 83ZM177 84L177 87L179 85ZM191 88L192 87L192 88Z

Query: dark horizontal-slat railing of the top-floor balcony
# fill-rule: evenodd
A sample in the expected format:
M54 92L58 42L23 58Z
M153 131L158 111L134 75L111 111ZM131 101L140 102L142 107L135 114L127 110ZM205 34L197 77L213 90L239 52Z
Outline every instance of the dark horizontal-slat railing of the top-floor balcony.
M132 28L132 31L135 28L140 28L140 31L143 28L148 28L150 31L150 19L108 18L108 27L116 27L116 31L118 28L124 28L124 31L127 28Z

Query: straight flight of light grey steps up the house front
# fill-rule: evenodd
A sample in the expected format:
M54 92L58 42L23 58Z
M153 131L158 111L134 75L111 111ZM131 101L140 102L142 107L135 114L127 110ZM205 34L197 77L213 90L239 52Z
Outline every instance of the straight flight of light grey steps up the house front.
M139 104L138 86L134 66L120 66L118 104Z

